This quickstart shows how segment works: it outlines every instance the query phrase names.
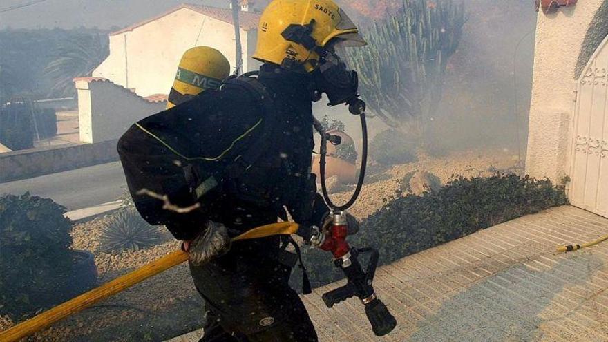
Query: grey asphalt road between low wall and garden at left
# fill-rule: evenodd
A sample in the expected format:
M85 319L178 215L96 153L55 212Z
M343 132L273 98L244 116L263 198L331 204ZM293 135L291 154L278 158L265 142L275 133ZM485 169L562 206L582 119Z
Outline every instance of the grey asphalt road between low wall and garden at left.
M126 189L120 162L84 167L26 180L0 183L0 195L32 195L52 198L68 211L116 200Z

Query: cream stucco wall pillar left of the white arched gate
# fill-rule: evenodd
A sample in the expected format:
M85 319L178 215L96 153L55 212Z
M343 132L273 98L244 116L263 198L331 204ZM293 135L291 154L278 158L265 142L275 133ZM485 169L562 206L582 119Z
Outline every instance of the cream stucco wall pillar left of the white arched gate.
M604 0L538 14L526 172L558 182L568 169L575 68L589 23Z

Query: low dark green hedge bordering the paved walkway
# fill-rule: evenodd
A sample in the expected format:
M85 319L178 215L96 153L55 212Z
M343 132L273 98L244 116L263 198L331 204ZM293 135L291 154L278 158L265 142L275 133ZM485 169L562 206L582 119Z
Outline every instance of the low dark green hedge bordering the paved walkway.
M362 222L350 237L356 247L379 250L380 263L461 238L480 229L567 204L563 187L549 180L494 175L457 178L438 191L395 198ZM302 249L311 281L325 285L343 277L327 252Z

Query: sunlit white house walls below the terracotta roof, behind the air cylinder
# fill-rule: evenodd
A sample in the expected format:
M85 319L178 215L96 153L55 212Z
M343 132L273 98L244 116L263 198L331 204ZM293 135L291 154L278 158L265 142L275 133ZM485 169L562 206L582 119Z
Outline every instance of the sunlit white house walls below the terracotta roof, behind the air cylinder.
M241 1L239 25L243 46L242 70L254 70L259 63L251 59L256 48L260 15L252 12L253 1ZM167 94L175 70L185 50L194 46L211 46L220 50L236 68L236 47L232 12L182 4L157 17L110 34L110 55L94 71L131 89L137 95Z

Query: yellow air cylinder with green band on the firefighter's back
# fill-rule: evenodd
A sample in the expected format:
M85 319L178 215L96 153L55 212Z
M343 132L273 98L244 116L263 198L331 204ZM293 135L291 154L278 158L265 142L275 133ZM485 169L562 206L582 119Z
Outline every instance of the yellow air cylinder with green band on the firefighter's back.
M230 63L220 51L197 46L182 56L169 93L167 109L186 102L207 89L216 89L230 74Z

